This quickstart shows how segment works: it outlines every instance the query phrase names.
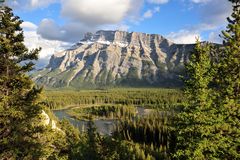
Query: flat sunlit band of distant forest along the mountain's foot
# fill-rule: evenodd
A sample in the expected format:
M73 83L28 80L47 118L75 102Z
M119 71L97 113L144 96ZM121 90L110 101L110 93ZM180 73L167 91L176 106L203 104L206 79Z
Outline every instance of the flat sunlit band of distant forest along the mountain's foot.
M112 89L89 91L45 91L44 103L50 109L72 105L121 104L148 108L169 108L184 102L177 89Z

